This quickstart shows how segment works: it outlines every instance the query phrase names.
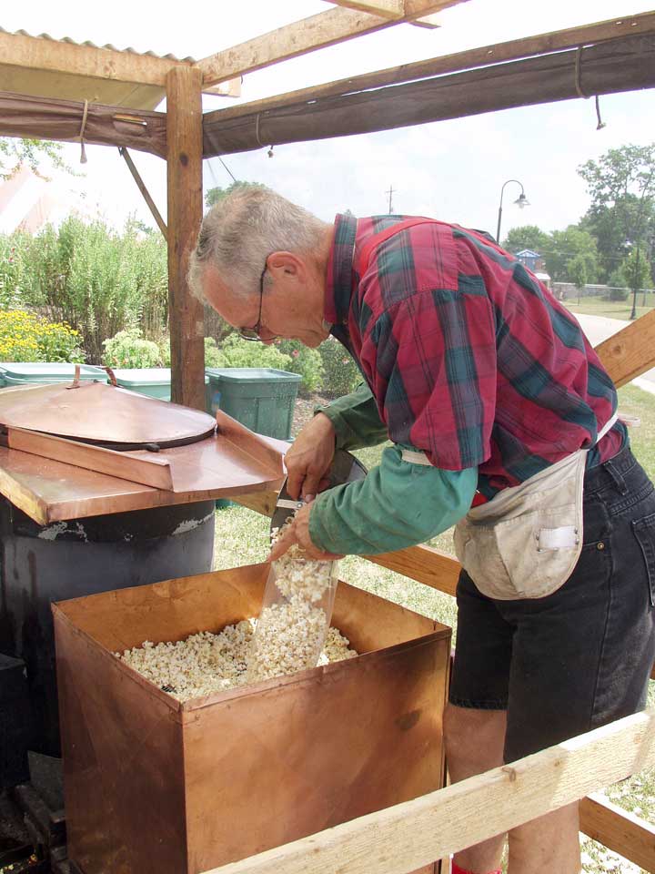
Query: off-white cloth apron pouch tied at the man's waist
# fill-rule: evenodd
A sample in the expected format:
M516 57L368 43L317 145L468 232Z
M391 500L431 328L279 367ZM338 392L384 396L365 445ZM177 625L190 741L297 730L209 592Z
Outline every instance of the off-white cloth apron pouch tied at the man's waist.
M455 552L483 595L500 601L552 595L582 549L582 484L587 452L553 464L455 528Z

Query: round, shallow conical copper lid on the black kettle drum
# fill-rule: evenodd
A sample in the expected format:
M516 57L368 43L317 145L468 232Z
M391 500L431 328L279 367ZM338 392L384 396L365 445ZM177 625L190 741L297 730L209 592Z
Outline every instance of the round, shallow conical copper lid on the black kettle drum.
M0 391L0 423L121 450L179 446L216 430L205 412L89 381Z

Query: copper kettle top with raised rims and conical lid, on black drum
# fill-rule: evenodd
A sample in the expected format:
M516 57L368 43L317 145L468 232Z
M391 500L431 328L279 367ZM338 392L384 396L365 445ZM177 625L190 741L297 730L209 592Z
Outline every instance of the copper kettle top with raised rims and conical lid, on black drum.
M103 382L0 391L0 427L0 493L39 524L277 491L284 476L286 443Z

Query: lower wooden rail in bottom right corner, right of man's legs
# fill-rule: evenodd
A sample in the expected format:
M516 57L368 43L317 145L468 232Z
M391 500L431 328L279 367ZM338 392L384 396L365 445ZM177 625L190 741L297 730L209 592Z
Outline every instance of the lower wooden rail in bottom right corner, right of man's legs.
M579 810L583 834L640 868L655 872L655 826L600 795L583 798Z

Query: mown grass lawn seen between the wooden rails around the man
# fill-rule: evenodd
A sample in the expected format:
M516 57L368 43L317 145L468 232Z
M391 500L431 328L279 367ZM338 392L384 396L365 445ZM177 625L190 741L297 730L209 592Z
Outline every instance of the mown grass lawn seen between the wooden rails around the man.
M633 386L626 386L619 391L619 409L620 412L640 418L640 427L630 431L632 450L650 478L655 479L655 441L652 438L655 433L655 396ZM356 454L361 462L371 468L378 463L383 449L384 446L377 446ZM228 507L217 511L214 556L217 569L263 561L267 554L267 545L267 518L243 507ZM450 532L440 534L431 541L431 545L448 554L454 554ZM454 633L457 630L455 599L449 595L356 556L344 559L340 576L368 592L407 606L445 625L451 625ZM649 697L650 706L655 706L655 683L650 684ZM630 780L610 787L606 790L606 795L620 807L655 822L655 770L642 771ZM588 874L605 874L609 871L617 874L638 874L641 870L588 838L582 841L582 853L583 870Z

